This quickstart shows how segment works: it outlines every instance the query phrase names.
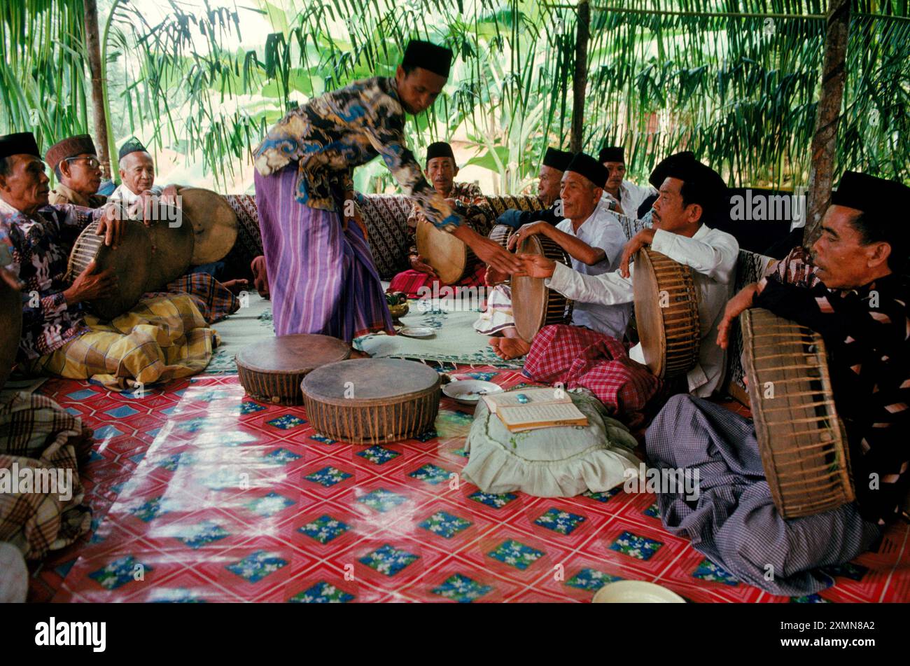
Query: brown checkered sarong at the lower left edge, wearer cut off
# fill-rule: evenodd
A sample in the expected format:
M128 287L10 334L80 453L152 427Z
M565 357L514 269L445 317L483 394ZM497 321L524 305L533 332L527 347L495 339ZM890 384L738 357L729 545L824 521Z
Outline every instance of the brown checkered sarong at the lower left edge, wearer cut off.
M92 446L92 431L52 399L27 393L5 394L0 404L0 469L70 469L72 497L59 493L0 492L0 541L22 550L26 560L44 557L85 534L91 514L81 506L78 460Z

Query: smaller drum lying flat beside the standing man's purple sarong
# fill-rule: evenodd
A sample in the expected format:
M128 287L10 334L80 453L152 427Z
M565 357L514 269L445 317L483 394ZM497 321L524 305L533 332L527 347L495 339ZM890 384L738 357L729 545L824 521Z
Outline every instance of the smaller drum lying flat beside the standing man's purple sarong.
M260 402L302 405L300 383L327 363L349 358L350 345L315 334L279 336L240 349L237 372L247 394Z

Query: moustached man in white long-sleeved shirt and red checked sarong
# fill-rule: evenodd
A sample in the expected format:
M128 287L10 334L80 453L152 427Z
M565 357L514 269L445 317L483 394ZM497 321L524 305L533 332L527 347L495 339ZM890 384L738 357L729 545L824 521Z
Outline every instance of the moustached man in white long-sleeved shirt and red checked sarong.
M698 363L685 377L686 386L679 389L707 398L723 380L723 349L707 340L716 337L723 306L732 294L739 244L730 234L706 227L703 219L720 204L726 186L691 153L667 157L651 179L660 184L660 197L653 206L654 226L626 244L616 271L587 276L546 257L523 255L523 273L545 278L547 287L577 302L612 306L632 303L633 267L629 262L641 247L650 245L691 267L698 291L702 345ZM632 429L645 423L646 408L650 412L659 393L676 389L662 385L644 365L641 344L627 350L620 336L575 326L542 328L531 343L524 374L537 381L561 382L569 389L591 389Z

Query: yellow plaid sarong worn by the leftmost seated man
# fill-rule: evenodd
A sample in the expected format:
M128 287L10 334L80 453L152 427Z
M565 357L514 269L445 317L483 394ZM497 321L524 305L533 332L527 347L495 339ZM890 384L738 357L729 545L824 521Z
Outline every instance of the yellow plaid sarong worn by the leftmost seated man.
M201 372L219 342L186 294L143 298L113 321L89 315L86 326L85 335L32 361L31 371L132 389Z

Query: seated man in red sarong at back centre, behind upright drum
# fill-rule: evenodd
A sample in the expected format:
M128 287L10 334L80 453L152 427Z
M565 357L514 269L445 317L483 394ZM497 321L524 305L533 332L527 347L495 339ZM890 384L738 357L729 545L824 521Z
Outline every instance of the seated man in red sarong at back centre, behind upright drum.
M433 184L433 189L444 197L451 207L454 207L462 216L466 215L470 207L486 207L486 200L480 193L476 183L456 183L458 165L455 164L455 154L452 147L445 141L437 141L427 146L427 177ZM402 271L392 278L389 291L400 291L409 298L417 298L421 288L432 290L433 282L439 279L436 270L430 266L425 257L420 257L416 245L417 225L426 220L420 207L415 204L411 207L408 216L408 235L410 249L408 258L410 270ZM453 287L479 287L483 284L483 275L486 267L478 262L476 269L469 271L468 275L456 282Z

